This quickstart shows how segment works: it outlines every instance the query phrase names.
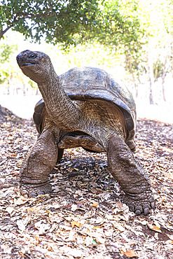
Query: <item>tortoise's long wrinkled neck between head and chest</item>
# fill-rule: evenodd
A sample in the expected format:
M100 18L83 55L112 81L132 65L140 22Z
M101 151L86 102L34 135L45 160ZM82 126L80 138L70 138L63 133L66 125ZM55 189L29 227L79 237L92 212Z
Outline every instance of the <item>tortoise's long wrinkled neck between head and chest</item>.
M49 78L38 83L38 86L53 122L62 130L76 130L81 117L80 109L64 92L53 66L50 66Z

